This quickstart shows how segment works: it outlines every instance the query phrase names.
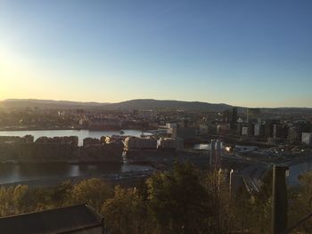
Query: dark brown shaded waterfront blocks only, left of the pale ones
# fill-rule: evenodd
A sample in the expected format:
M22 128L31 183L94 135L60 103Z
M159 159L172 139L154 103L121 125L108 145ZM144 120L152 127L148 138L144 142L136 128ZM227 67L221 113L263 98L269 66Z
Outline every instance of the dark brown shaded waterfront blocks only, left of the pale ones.
M84 145L79 147L77 136L40 137L36 141L33 136L0 138L0 162L2 163L122 163L123 150L121 141L108 143L96 139L85 139Z

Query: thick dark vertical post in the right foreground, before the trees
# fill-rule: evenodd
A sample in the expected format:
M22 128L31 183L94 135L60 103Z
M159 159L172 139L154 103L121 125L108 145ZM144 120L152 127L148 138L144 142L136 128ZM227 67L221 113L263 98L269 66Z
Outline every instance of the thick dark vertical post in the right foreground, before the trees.
M287 229L287 190L285 173L288 166L274 165L272 191L272 234Z

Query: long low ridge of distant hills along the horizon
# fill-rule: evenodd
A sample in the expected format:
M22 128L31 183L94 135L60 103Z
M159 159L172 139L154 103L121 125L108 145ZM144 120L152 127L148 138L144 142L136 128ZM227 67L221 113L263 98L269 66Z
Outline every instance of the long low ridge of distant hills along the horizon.
M108 102L81 102L81 101L53 101L36 99L8 99L0 101L0 107L8 109L40 108L40 109L185 109L203 111L224 111L232 109L233 106L224 103L209 103L201 101L174 101L137 99L121 101L117 103ZM239 107L239 112L244 107ZM311 108L261 108L262 113L312 113Z

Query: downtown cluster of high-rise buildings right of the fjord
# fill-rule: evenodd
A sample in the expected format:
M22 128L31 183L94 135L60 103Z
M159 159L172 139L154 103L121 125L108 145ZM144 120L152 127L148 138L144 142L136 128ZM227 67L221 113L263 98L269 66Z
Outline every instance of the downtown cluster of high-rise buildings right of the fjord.
M291 143L311 145L312 125L305 118L270 116L260 109L239 109L234 107L218 113L217 116L201 117L200 120L171 122L164 125L168 135L182 138L185 142L211 139L216 136L244 138L247 141L261 141L271 144Z

